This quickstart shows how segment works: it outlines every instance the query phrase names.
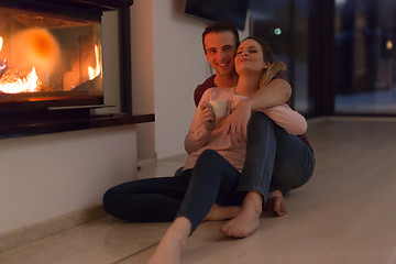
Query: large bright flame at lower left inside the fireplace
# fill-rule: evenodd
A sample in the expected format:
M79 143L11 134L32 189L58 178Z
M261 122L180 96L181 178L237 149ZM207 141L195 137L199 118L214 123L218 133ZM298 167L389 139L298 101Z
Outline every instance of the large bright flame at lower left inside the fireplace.
M33 67L32 72L24 78L2 78L0 80L0 91L6 94L35 92L40 91L41 85L42 82Z

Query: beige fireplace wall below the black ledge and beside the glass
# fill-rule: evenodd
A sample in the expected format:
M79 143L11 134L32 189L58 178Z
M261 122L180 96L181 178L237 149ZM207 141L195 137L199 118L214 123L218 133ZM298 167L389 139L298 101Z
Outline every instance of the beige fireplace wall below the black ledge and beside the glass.
M117 14L103 18L105 92L119 100ZM116 35L114 35L116 34ZM112 52L110 52L112 51ZM136 175L134 125L0 140L0 237L101 205Z

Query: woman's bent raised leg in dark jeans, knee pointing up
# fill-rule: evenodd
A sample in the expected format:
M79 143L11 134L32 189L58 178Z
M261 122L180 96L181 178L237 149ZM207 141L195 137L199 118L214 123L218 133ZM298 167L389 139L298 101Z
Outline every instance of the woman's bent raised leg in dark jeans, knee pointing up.
M177 217L186 217L191 233L205 219L215 202L221 206L241 205L234 195L240 173L226 158L212 150L198 157L190 183Z

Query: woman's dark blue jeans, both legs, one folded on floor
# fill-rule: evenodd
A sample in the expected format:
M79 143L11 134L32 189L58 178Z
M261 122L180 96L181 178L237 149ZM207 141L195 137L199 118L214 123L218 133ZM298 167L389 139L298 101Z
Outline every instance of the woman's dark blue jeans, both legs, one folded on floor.
M216 151L207 150L193 169L176 177L147 178L118 185L103 196L103 208L130 221L173 221L184 216L191 232L212 205L241 205L235 188L241 174Z

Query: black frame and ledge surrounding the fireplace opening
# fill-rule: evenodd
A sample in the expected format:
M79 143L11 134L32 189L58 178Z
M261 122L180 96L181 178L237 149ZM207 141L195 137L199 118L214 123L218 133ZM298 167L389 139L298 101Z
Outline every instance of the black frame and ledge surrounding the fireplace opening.
M0 0L0 6L43 11L61 16L101 20L105 11L116 10L119 15L120 35L120 95L121 112L111 114L91 114L98 106L65 107L45 111L3 111L0 114L0 139L35 134L125 125L153 122L154 113L133 116L131 79L131 26L130 7L133 0ZM95 105L95 103L94 103ZM12 107L10 105L10 107Z

